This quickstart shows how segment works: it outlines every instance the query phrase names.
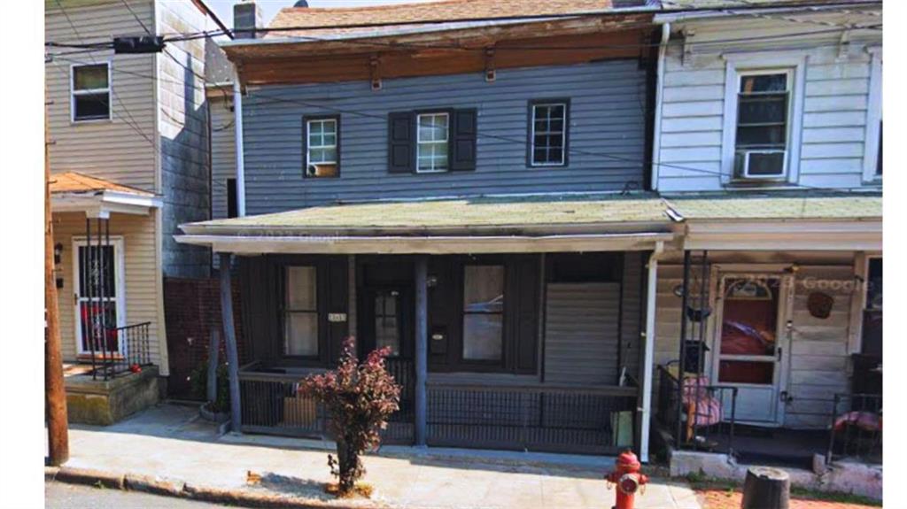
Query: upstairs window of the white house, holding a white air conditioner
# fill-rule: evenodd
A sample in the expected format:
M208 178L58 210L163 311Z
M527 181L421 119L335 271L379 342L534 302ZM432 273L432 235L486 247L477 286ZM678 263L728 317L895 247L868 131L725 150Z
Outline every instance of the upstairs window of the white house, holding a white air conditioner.
M791 75L743 72L737 90L736 178L785 178Z

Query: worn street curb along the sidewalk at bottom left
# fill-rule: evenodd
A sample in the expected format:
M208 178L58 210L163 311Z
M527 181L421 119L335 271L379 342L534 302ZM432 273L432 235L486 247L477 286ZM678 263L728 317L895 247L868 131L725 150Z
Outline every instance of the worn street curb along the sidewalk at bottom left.
M191 485L178 479L166 479L151 475L124 474L117 475L90 468L70 466L45 466L44 480L69 483L73 485L90 485L105 488L116 488L127 491L139 491L153 495L188 498L214 504L233 504L243 507L289 509L364 509L375 505L344 504L336 500L325 502L264 493L249 493L244 490L211 488Z

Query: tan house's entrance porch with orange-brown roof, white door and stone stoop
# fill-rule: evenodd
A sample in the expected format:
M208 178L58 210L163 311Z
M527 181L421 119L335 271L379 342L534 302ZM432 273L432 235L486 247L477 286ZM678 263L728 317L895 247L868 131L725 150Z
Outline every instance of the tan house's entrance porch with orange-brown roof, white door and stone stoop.
M156 403L166 375L148 255L161 199L76 172L50 187L69 419L111 424Z

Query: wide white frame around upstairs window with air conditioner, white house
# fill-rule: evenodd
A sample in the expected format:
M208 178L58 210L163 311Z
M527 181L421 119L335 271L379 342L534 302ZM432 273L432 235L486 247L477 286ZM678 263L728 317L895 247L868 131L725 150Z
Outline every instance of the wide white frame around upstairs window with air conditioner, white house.
M800 145L803 137L803 102L806 87L805 53L727 53L725 66L724 125L721 137L721 183L733 185L736 157L737 93L743 75L789 72L790 101L787 120L787 154L785 158L788 183L800 178ZM775 180L776 183L783 181Z

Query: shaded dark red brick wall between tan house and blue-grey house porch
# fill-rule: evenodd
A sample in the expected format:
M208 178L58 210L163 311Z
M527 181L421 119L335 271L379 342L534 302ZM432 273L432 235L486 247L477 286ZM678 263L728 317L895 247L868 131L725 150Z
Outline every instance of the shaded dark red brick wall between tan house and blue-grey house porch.
M234 278L233 317L239 350L239 364L249 362L251 354L244 341L242 303L239 282ZM167 351L171 376L168 395L171 398L194 399L190 375L201 362L208 360L211 331L220 335L220 359L226 359L223 325L220 317L220 283L217 278L164 278L164 314L167 321Z

